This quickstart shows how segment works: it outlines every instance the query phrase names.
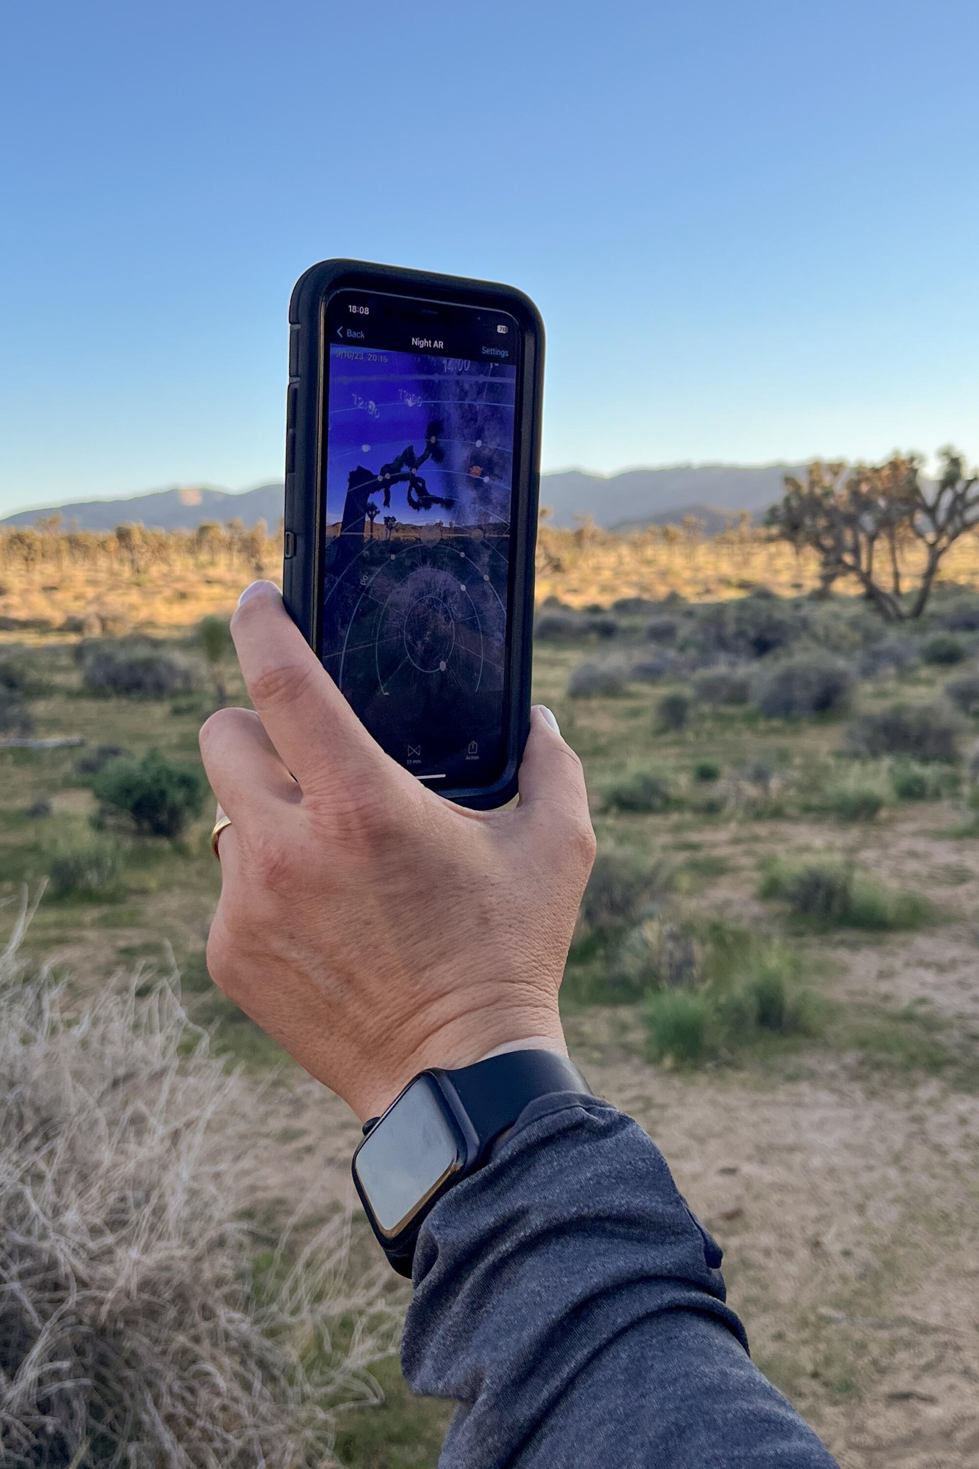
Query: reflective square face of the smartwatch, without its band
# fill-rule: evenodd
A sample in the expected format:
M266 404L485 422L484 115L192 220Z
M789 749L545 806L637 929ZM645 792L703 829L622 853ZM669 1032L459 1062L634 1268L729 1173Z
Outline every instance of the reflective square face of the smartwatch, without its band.
M395 1238L462 1166L461 1138L430 1077L417 1077L357 1149L354 1171L377 1228Z

